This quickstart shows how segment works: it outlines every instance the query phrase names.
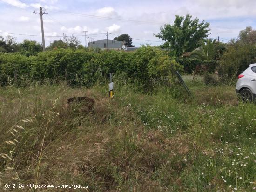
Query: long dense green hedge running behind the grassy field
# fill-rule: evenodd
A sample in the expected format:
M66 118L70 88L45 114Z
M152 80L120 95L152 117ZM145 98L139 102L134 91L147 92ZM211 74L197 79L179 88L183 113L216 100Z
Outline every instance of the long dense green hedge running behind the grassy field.
M0 53L0 83L8 78L21 84L30 81L54 82L65 80L71 85L91 86L98 76L109 72L124 73L146 85L172 75L182 66L157 47L142 46L135 52L90 52L84 49L57 49L25 57L18 53Z

